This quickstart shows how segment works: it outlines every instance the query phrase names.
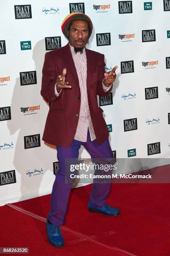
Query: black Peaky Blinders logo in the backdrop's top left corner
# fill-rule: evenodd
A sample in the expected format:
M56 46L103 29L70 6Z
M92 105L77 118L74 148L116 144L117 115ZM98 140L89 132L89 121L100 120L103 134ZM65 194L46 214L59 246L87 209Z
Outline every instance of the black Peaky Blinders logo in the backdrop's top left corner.
M31 19L31 5L14 5L15 19Z

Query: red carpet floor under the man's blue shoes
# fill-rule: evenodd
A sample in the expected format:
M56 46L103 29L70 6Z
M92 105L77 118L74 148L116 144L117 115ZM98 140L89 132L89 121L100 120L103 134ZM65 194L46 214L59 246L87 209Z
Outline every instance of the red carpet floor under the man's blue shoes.
M72 232L62 230L63 248L48 243L43 221L7 205L0 207L0 247L29 247L30 255L170 255L170 184L112 184L107 203L120 209L116 217L87 210L90 189L71 190L65 227ZM49 202L46 195L13 205L46 218Z

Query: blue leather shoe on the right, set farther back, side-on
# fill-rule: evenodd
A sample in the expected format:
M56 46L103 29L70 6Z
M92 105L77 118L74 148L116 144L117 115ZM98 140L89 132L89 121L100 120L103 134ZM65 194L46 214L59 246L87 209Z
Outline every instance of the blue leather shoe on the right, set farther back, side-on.
M98 207L98 206L92 205L91 202L89 202L88 208L89 208L89 212L99 212L99 213L103 213L105 215L110 215L110 216L117 216L120 214L119 209L114 208L107 204L105 204L104 207Z

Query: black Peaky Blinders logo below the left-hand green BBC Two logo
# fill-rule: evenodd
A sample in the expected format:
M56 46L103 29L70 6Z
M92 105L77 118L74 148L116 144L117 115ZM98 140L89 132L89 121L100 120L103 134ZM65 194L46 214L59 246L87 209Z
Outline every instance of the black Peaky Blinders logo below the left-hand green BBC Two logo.
M20 85L37 84L36 71L20 72Z

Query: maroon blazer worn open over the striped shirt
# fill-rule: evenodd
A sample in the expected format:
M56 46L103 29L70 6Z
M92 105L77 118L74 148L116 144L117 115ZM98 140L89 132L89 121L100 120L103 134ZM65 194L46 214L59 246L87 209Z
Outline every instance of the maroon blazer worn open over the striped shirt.
M104 54L86 49L87 58L87 97L94 133L99 144L109 136L107 125L103 118L103 110L98 107L97 95L107 96L112 91L104 92L102 80L104 79ZM58 97L54 92L57 75L67 69L66 82L71 89L63 89ZM74 140L80 113L80 87L74 61L69 44L45 54L43 64L43 77L41 95L47 102L51 102L43 141L47 143L68 147Z

